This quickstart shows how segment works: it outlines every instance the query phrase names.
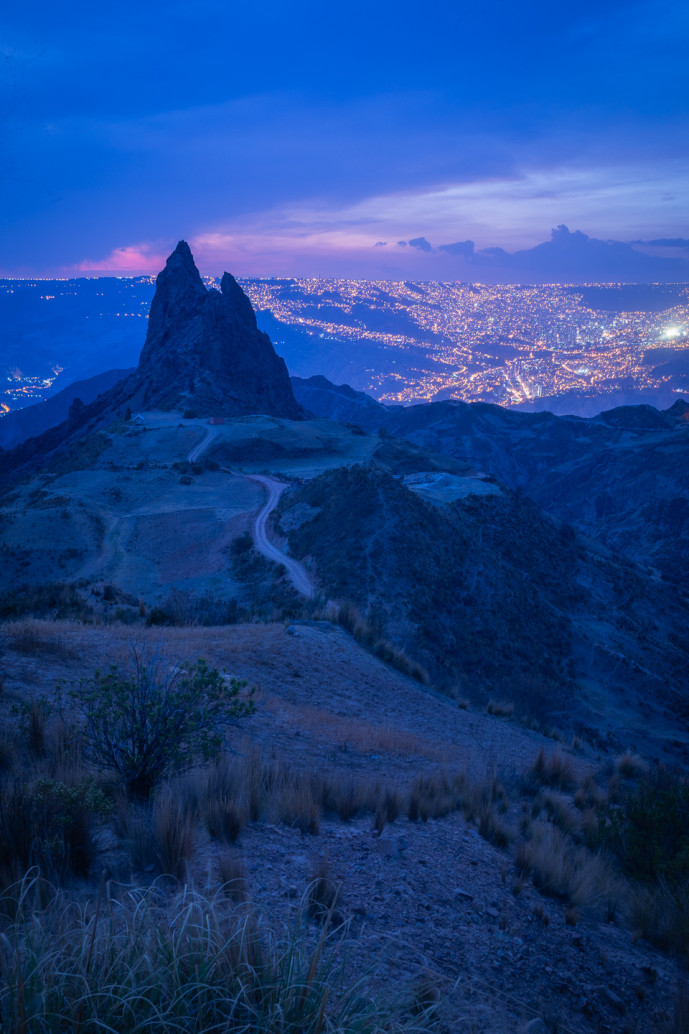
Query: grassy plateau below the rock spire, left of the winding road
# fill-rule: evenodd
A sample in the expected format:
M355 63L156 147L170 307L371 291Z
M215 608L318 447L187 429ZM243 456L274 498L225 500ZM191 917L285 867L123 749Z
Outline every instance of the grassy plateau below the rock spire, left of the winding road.
M230 464L301 477L366 461L378 447L329 421L250 416L209 428L159 412L120 421L5 494L0 589L66 580L111 583L149 606L172 587L241 598L230 546L264 491Z

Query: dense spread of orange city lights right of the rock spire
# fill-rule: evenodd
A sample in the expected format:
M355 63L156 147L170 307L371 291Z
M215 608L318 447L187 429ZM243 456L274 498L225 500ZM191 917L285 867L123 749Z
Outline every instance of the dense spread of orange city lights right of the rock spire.
M597 311L568 285L303 279L244 286L257 309L283 324L378 345L380 364L355 387L384 402L456 397L510 405L571 391L652 389L669 376L654 374L647 353L689 348L686 286L677 292L680 304L662 312Z

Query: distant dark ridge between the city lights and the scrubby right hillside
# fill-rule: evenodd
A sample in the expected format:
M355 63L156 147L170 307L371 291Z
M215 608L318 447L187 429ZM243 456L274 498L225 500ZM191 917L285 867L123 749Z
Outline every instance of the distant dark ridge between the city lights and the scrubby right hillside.
M319 382L318 384L314 382ZM689 404L622 406L595 419L522 414L497 405L437 402L385 409L347 386L295 379L303 405L351 419L452 456L520 488L680 591L689 562Z

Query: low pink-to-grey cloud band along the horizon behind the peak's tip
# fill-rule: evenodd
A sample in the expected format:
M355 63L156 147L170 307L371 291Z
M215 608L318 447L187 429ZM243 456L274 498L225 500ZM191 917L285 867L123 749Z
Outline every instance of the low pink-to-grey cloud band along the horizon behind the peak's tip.
M657 282L689 280L684 256L658 256L642 250L650 242L600 240L563 223L549 240L530 248L499 246L477 249L471 240L437 247L426 237L400 240L392 251L375 241L366 227L303 226L298 220L258 233L243 227L187 237L203 273L228 269L243 276L266 271L286 276L357 276L370 279L457 279L483 283ZM669 238L654 238L654 240ZM676 240L672 238L672 240ZM61 275L90 273L155 274L164 265L175 241L140 242L114 248L106 257L84 260ZM386 251L381 251L382 247ZM372 256L373 249L378 253ZM393 256L396 256L393 258Z

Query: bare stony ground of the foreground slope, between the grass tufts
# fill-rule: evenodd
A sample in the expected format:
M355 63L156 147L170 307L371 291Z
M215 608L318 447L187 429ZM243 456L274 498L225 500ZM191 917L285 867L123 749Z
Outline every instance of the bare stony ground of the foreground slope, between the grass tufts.
M117 627L24 620L3 626L1 636L5 740L13 705L50 696L59 679L123 663L131 646L130 630ZM587 772L611 770L612 759L509 717L462 709L326 622L137 630L137 639L171 661L203 656L258 688L256 714L231 738L236 757L253 753L335 783L380 785L402 800L419 776L463 771L479 790L501 787L497 814L516 838L491 843L477 817L458 810L413 822L402 805L383 828L370 814L347 822L326 815L311 831L268 813L232 847L199 827L188 870L197 886L217 887L219 859L230 857L263 921L281 930L304 919L307 888L321 877L337 893L332 937L351 971L376 995L411 993L437 1005L442 1031L673 1029L680 971L633 936L624 895L607 916L596 895L572 908L515 868L520 817L533 804L525 773L539 750L562 752L579 785ZM101 847L98 868L110 866L113 879L147 879L132 877L108 829Z

